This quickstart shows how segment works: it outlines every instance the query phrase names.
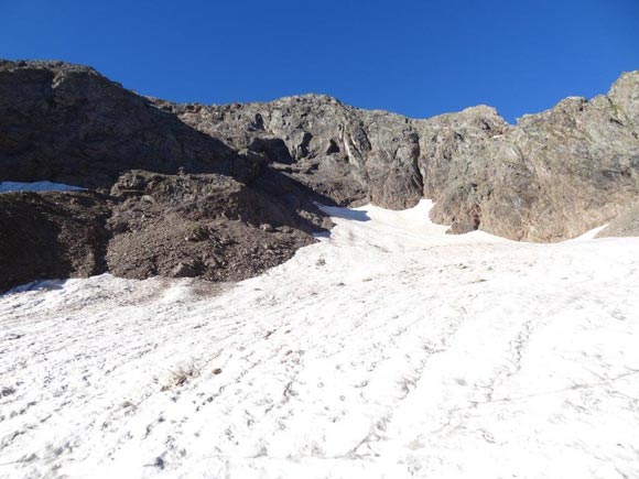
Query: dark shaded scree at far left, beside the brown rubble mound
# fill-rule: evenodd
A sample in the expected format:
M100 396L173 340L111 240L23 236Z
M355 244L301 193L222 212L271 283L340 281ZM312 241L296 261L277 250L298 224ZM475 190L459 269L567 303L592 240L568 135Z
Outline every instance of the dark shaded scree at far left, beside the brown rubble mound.
M108 200L96 193L0 195L0 292L107 271Z

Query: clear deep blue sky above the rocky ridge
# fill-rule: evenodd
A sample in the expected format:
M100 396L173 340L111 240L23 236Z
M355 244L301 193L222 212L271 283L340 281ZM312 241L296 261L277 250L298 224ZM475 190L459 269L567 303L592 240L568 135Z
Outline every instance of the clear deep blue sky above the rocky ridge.
M174 101L312 91L512 121L639 69L639 0L0 0L0 57L91 65Z

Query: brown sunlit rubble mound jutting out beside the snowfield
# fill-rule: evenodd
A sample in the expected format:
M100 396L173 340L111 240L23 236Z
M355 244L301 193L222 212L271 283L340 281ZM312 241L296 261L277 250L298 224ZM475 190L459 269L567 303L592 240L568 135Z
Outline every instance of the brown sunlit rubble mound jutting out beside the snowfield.
M108 270L124 277L238 281L312 243L322 218L228 176L130 172L111 190ZM301 211L302 213L302 211Z

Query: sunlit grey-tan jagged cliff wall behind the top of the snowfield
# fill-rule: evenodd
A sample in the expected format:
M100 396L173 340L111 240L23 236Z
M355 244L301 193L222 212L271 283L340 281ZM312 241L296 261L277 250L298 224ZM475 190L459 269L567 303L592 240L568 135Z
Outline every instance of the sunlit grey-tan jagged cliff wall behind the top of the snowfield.
M639 193L639 73L508 124L489 107L413 120L317 95L204 107L158 100L198 131L266 154L333 200L387 208L435 200L451 232L576 237Z

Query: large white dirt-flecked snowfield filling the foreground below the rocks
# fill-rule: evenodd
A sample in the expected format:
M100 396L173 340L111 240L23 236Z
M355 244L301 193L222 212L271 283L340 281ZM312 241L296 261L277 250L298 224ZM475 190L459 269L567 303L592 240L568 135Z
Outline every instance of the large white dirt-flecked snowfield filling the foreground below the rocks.
M447 236L431 204L239 284L0 296L0 476L639 477L639 239Z

